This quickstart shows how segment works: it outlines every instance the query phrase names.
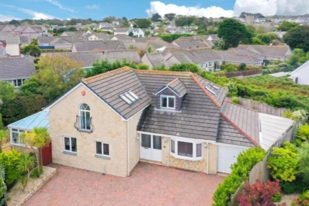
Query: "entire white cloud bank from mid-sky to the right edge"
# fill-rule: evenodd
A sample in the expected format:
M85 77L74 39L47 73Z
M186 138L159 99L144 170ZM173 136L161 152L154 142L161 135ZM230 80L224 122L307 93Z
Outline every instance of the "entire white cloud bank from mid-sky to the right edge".
M178 6L165 4L160 1L150 2L150 8L146 10L148 16L159 13L163 16L167 13L177 15L196 15L205 17L233 17L241 12L261 13L267 15L303 15L309 13L309 0L236 0L233 10L224 10L218 6L201 8L199 6Z

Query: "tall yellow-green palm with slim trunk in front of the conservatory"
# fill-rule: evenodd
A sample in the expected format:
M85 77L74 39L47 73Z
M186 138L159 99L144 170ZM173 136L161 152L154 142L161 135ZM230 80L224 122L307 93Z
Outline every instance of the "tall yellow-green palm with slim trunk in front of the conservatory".
M32 132L22 133L23 141L26 142L36 153L37 171L42 166L42 148L46 147L50 142L50 137L45 127L35 127ZM39 158L40 157L40 158Z

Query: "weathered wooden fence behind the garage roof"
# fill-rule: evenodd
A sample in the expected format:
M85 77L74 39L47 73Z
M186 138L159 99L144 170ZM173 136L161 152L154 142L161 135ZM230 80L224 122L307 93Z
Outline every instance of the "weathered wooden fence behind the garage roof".
M229 101L231 101L231 97L227 97L227 99ZM260 113L265 113L265 114L275 115L275 116L282 116L283 113L285 111L287 111L286 108L273 107L273 106L268 105L266 103L260 103L258 101L252 100L252 99L244 99L244 98L241 98L241 97L237 97L237 99L238 99L239 105L257 110Z

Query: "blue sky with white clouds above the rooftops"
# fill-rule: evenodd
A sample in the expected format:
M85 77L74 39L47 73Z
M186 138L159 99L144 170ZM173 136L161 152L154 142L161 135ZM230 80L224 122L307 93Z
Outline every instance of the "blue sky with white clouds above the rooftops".
M303 15L309 0L0 0L0 21L12 19L128 19L164 15L239 16L243 11L263 15Z

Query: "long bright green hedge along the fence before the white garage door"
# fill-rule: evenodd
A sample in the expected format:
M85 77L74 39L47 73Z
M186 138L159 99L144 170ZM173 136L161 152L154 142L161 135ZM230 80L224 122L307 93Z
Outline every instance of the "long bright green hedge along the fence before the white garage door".
M213 199L215 206L229 205L231 195L235 193L237 188L248 180L248 173L256 163L263 160L266 152L254 147L241 152L237 157L237 162L231 166L231 174L224 179L214 193Z

